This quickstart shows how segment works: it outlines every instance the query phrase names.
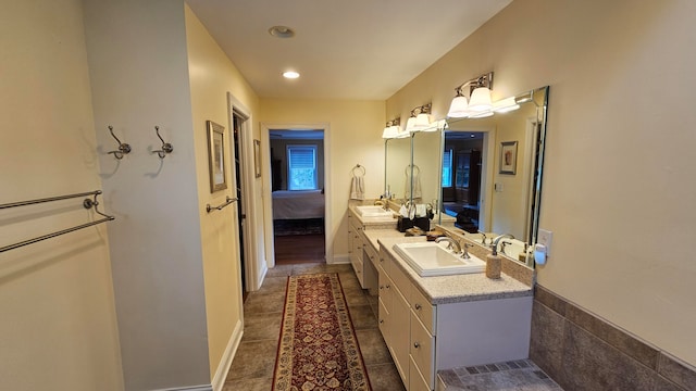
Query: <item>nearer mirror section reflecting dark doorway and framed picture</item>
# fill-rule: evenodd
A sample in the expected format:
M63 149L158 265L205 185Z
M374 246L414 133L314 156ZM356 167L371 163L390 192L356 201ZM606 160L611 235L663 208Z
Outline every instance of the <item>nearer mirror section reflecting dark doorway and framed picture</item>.
M486 118L450 118L445 131L442 210L478 242L478 232L486 243L512 234L505 253L522 262L538 228L547 94L521 93L518 110Z

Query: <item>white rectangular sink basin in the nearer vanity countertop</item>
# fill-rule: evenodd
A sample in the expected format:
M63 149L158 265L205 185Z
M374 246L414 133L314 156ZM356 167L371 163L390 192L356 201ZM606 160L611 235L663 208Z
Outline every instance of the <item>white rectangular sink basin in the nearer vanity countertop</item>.
M446 247L446 242L417 242L394 244L393 249L421 277L483 273L486 269L486 263L481 258L471 255L464 260Z

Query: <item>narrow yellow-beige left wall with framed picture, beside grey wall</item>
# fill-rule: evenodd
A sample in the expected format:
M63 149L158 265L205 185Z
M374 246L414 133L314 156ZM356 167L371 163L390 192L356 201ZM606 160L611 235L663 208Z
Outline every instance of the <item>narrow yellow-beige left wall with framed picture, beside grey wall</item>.
M227 189L211 194L206 121L223 125L226 140L229 142L232 124L227 109L227 92L237 97L250 111L249 114L258 110L258 98L188 7L186 7L186 35L198 198L201 205L207 203L219 205L225 202L225 195L236 197L235 175L231 165L233 151L232 149L225 151ZM250 140L253 135L249 133L247 136ZM222 376L224 380L226 370L222 370L225 369L225 350L232 341L241 337L243 330L243 287L236 239L238 235L235 224L238 218L236 206L233 204L221 212L210 214L203 207L199 207L211 379L220 370L217 377ZM251 254L247 256L251 257Z

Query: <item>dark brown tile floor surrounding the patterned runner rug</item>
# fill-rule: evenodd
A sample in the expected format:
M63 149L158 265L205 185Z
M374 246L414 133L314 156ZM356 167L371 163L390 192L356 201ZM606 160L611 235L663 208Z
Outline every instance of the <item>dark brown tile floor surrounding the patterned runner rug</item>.
M338 273L373 391L405 390L377 325L377 297L360 288L350 264L278 265L244 304L245 330L223 391L270 391L281 333L287 277Z

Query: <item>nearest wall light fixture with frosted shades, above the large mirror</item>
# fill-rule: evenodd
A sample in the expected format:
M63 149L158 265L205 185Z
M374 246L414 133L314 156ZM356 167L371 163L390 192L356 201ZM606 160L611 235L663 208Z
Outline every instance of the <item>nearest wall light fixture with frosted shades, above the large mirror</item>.
M493 109L490 102L490 89L493 89L493 72L483 74L476 78L465 81L455 88L456 97L449 106L448 117L467 118L488 116L485 114ZM467 96L470 97L467 101Z

